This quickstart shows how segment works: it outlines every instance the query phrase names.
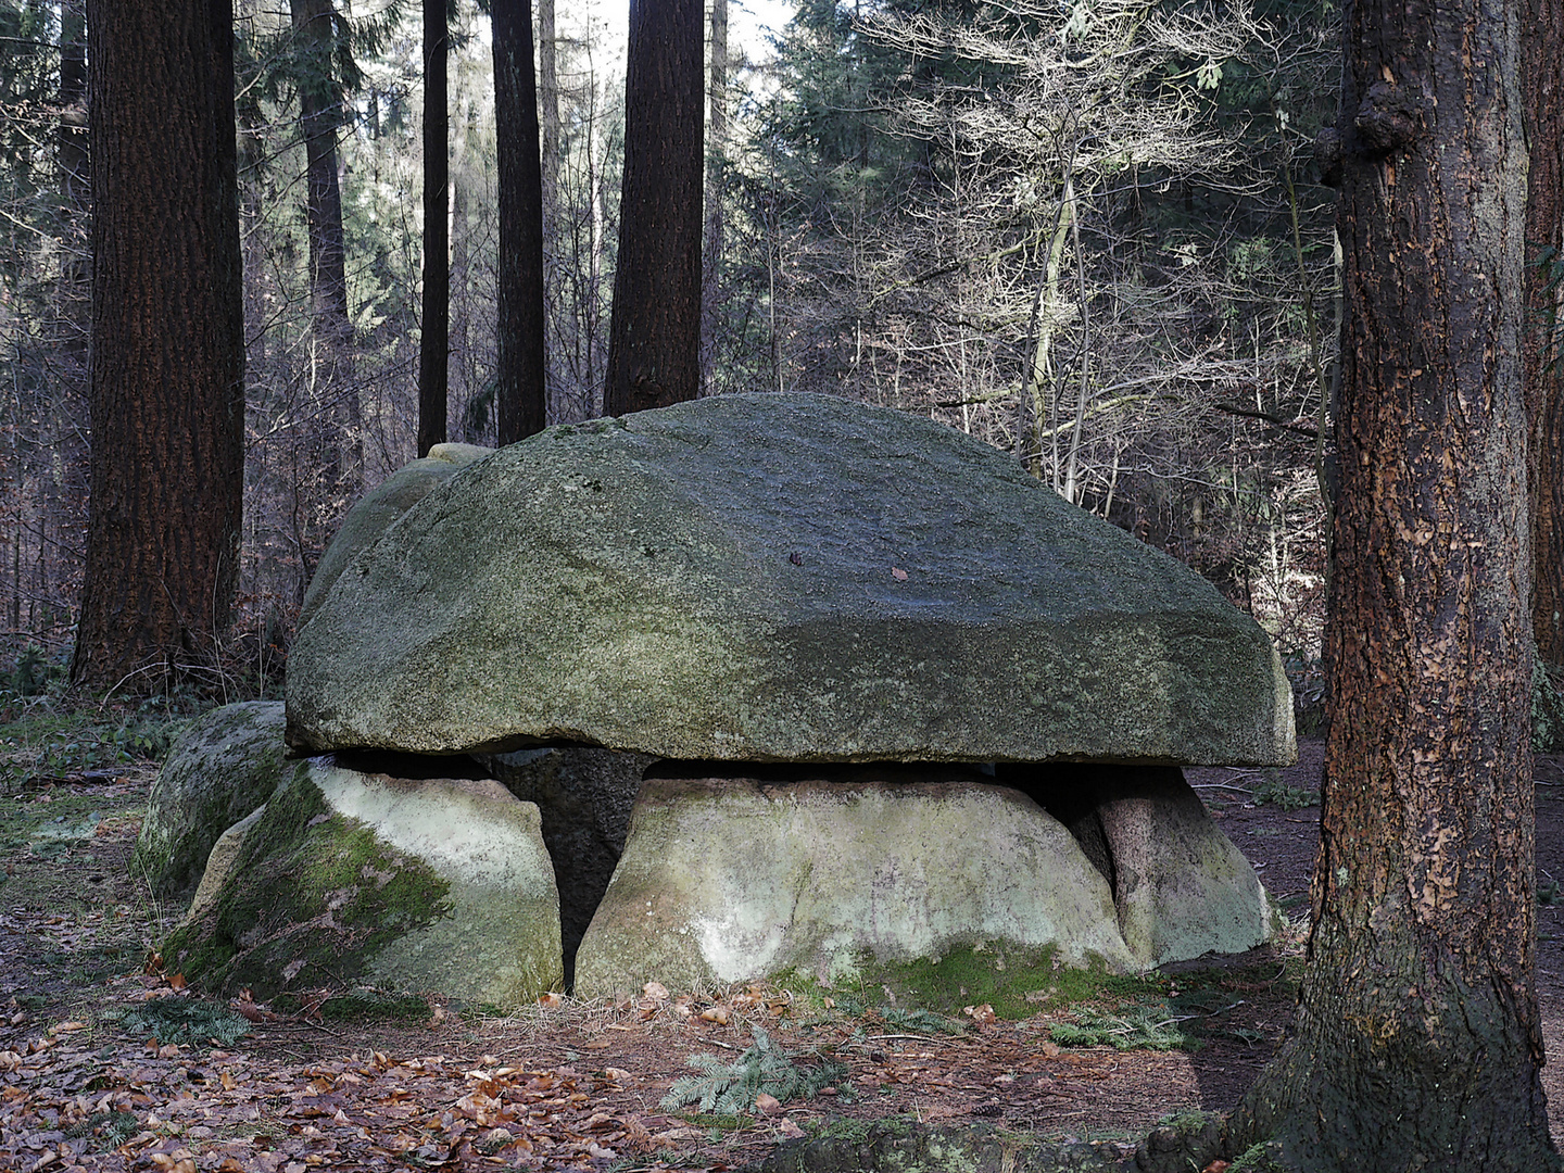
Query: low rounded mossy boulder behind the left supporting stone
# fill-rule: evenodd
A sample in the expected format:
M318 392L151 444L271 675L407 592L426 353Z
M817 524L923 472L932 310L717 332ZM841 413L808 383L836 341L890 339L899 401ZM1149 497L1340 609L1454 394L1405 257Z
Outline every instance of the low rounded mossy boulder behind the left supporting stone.
M217 837L282 782L283 754L282 701L224 705L196 721L152 784L131 874L160 901L183 907Z

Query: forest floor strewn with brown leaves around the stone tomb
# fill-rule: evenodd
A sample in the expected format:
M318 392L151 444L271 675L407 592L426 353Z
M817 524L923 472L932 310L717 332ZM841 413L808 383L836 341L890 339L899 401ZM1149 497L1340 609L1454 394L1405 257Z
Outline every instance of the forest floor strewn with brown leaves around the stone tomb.
M565 998L511 1017L408 998L294 1015L206 1001L149 963L169 910L127 874L153 766L0 771L0 1170L730 1168L841 1120L896 1115L1128 1154L1170 1115L1232 1107L1287 1031L1318 823L1297 804L1322 746L1301 749L1279 776L1189 773L1293 918L1287 940L1101 982L1018 1021L759 987L649 987L622 1006ZM1537 984L1556 1056L1564 763L1537 773ZM735 1064L757 1026L805 1073L843 1070L815 1098L751 1099L737 1115L663 1107L674 1081L701 1074L691 1056ZM1550 1067L1545 1082L1564 1139L1564 1078Z

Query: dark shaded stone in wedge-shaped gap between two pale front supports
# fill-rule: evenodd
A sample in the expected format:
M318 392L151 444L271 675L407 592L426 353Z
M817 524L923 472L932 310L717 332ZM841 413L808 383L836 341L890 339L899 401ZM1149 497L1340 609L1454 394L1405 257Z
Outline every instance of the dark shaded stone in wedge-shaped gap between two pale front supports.
M480 765L511 795L536 802L543 841L560 890L565 984L574 982L576 949L624 851L630 807L655 759L613 749L519 749L485 754Z

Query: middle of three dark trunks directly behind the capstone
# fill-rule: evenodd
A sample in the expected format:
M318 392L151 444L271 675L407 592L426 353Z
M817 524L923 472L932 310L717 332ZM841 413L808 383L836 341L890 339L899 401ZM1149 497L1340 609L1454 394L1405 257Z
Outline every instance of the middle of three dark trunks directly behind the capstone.
M543 347L543 164L532 11L494 0L494 122L499 152L499 443L541 432L547 411Z

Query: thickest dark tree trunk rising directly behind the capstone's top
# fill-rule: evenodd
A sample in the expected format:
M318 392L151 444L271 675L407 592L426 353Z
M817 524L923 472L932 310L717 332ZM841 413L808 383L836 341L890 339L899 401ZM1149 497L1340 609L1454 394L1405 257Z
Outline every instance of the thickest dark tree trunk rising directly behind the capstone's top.
M610 416L701 393L701 0L632 0Z

